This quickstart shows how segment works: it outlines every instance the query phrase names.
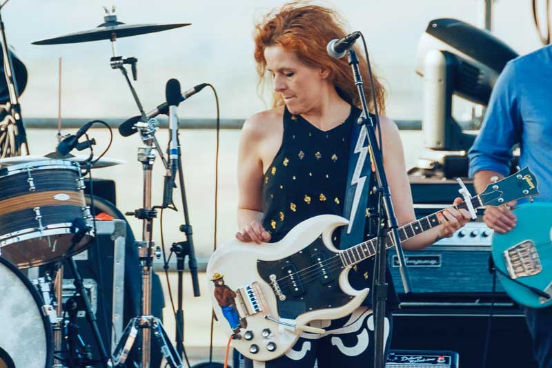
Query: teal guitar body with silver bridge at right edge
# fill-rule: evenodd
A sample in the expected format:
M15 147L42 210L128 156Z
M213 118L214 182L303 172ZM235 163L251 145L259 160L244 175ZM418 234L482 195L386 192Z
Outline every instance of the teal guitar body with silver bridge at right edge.
M516 302L531 308L552 306L552 298L538 296L511 280L552 295L552 204L522 204L514 210L517 225L506 234L493 235L495 265L502 286Z

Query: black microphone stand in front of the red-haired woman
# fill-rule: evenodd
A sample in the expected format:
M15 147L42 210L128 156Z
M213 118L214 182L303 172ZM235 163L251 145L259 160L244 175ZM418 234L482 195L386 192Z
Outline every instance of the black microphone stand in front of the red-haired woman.
M367 57L368 55L366 55ZM362 103L363 113L359 118L359 124L364 124L366 126L368 145L371 148L374 166L375 166L375 175L377 179L377 195L378 195L378 209L377 209L377 254L375 258L375 278L374 278L374 300L375 300L375 310L374 310L374 333L375 333L375 345L374 345L374 367L375 368L384 368L385 367L385 356L384 356L384 322L385 322L385 311L386 311L386 300L387 300L387 289L388 284L386 283L386 238L388 231L391 233L391 239L393 244L395 244L395 250L397 251L397 256L399 260L400 272L402 282L404 284L404 291L406 293L410 292L410 278L408 278L408 272L404 268L404 254L402 252L402 247L400 245L400 237L397 232L398 224L397 218L395 217L395 211L393 209L393 202L391 202L391 191L389 191L389 186L387 178L384 171L384 164L382 153L380 148L377 145L377 138L375 135L375 126L373 124L372 118L368 113L368 105L366 104L366 95L364 95L364 83L362 81L362 76L360 75L358 68L358 57L353 50L350 48L348 50L348 64L353 69L353 75L355 77L355 85L357 86L358 94L360 101ZM377 102L374 100L374 104ZM375 117L377 120L377 115ZM390 331L391 333L391 331Z

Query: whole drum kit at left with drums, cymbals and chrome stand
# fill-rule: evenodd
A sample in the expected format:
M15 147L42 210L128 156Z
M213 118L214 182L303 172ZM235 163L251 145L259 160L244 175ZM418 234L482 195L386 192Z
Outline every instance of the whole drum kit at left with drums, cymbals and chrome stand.
M1 1L0 10L7 2L8 0ZM124 367L136 339L141 344L137 349L139 362L132 367L147 368L150 367L151 333L157 340L167 364L170 367L183 367L181 351L175 351L170 345L161 321L150 316L151 267L155 253L152 220L156 217L156 209L159 208L151 204L152 164L156 152L166 166L167 163L155 139L157 122L155 119L149 119L144 113L126 72L126 66L130 66L136 80L137 59L117 55L115 43L121 37L170 30L188 26L189 23L129 25L117 21L115 8L104 9L107 15L97 28L43 39L34 44L54 45L110 40L110 65L113 69L121 70L139 108L140 118L137 119L136 129L144 143L138 152L138 159L144 169L144 203L143 208L132 214L144 222L143 240L137 242L142 281L141 315L130 320L114 354L106 352L86 292L83 290L82 280L79 285L79 272L72 256L88 249L95 240L95 217L84 195L83 168L86 167L86 171L89 171L90 168L124 162L103 157L92 160L88 156L59 157L55 154L21 156L21 146L29 153L21 122L21 109L17 101L26 84L26 70L24 66L21 67L21 61L6 48L6 35L0 13L5 66L1 71L6 75L5 89L9 92L1 96L3 91L0 84L0 97L4 97L0 104L6 103L9 107L6 113L14 117L15 123L12 133L17 133L14 134L15 140L13 137L6 137L6 141L11 141L11 145L6 146L10 149L6 148L0 152L3 157L0 158L0 368ZM25 70L23 77L21 70ZM1 134L6 132L7 129L1 129L0 144ZM91 148L91 144L88 146ZM0 146L0 149L2 147ZM180 184L183 191L182 180ZM182 193L184 197L184 192ZM172 200L170 202L172 203ZM189 241L191 243L191 238ZM192 248L189 251L191 266L193 243L188 245ZM91 357L86 351L81 351L82 341L79 342L78 334L70 333L68 321L62 317L67 306L62 305L61 300L61 261L68 263L77 280L75 287L80 291L84 304L88 306L87 317L90 328L95 332L96 342L101 351L100 357ZM195 258L193 261L195 262ZM29 279L24 272L34 267L46 267L49 271L41 278ZM4 297L6 295L10 298Z

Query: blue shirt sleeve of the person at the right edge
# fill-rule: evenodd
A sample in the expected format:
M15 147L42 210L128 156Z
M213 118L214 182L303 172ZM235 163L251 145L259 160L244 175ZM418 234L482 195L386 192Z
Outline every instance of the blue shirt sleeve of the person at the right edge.
M518 102L515 61L509 61L493 87L480 133L469 150L470 177L482 170L509 175L512 148L522 133Z

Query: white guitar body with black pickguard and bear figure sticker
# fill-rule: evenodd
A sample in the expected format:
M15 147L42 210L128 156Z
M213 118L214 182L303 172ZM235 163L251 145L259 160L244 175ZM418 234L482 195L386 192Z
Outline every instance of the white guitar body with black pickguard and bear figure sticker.
M228 335L239 337L232 342L235 349L253 360L272 360L293 347L302 331L324 332L308 322L341 318L362 304L368 289L351 287L351 267L344 267L331 241L333 230L344 224L342 217L319 215L279 242L234 240L213 253L207 266L210 297Z

